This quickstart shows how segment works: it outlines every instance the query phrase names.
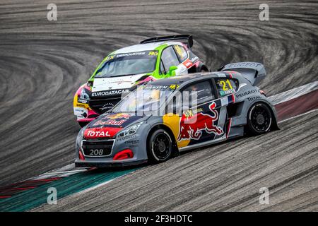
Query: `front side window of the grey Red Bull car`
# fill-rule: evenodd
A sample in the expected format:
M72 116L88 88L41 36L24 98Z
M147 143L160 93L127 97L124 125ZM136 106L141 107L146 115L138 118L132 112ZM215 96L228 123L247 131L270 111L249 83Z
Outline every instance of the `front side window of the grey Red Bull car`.
M182 91L182 97L182 105L188 106L192 106L194 103L201 105L216 98L211 81L203 81L189 85Z

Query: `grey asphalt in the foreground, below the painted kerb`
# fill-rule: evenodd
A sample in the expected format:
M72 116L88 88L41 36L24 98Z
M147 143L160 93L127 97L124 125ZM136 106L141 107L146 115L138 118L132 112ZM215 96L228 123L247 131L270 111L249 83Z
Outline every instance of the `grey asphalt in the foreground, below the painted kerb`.
M318 111L280 126L144 167L35 211L317 211ZM262 187L270 191L269 205L259 204Z

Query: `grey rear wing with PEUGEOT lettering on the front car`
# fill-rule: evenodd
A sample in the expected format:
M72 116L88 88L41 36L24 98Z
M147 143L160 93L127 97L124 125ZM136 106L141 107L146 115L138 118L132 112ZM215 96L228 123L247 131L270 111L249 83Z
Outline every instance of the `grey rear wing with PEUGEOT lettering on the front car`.
M257 62L239 62L226 64L218 71L237 71L242 74L252 85L257 85L266 76L263 64Z

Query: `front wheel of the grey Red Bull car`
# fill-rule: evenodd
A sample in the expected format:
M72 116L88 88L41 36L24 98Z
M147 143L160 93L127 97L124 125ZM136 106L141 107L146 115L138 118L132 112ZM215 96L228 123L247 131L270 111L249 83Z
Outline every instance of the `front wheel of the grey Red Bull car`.
M164 129L154 131L147 143L148 160L151 163L167 161L172 155L172 139Z

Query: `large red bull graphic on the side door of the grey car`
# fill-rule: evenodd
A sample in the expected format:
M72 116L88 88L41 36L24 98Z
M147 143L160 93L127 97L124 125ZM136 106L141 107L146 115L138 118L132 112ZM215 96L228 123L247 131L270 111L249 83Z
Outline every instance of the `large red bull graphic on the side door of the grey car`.
M218 120L218 111L216 111L216 103L213 102L208 106L213 116L199 112L197 114L182 114L179 123L178 141L182 140L199 140L202 136L202 131L206 133L223 134L223 129L215 126L214 122Z

